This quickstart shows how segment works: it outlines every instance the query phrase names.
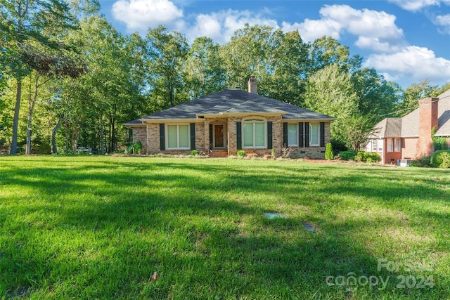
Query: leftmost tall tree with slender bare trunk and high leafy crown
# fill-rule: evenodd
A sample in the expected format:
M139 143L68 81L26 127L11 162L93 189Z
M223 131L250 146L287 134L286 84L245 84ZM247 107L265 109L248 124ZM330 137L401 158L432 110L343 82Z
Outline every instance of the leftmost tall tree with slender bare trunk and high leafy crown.
M11 142L11 154L15 154L22 79L33 69L58 66L46 55L47 51L62 48L60 36L54 30L63 32L72 28L75 20L67 4L60 0L0 0L0 4L0 31L10 59L6 67L17 82ZM52 30L46 30L48 27ZM37 51L43 55L35 56Z

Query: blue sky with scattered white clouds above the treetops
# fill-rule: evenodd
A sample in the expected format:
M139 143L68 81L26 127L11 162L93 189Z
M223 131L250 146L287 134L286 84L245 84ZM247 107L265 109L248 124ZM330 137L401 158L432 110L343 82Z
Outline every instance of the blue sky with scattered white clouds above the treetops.
M101 0L113 26L145 36L160 24L219 44L249 23L298 30L304 41L323 35L337 39L388 80L406 88L430 79L450 81L450 0L376 1L216 1Z

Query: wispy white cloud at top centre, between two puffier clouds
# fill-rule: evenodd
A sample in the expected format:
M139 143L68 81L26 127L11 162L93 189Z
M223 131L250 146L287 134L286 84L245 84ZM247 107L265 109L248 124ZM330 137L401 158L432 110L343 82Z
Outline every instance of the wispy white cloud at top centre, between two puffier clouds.
M187 37L190 40L195 37L207 36L218 43L229 41L236 30L248 23L252 25L267 25L278 28L276 20L264 18L251 11L219 11L217 13L200 14L195 17L195 24L188 28Z

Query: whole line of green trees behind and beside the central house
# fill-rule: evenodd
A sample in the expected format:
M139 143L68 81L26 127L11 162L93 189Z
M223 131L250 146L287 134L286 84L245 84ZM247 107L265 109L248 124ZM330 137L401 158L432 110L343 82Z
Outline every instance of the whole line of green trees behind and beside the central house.
M226 44L190 44L162 25L123 35L96 0L0 4L0 145L11 154L115 152L130 141L124 122L246 89L250 76L262 96L337 117L335 148L357 149L380 119L450 88L425 80L402 90L331 37L306 43L297 31L245 25Z

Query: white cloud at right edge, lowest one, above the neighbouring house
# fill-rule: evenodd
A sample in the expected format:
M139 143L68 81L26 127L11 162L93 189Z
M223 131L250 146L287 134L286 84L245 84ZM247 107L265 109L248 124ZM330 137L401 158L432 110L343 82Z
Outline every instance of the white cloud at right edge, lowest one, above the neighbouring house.
M434 51L418 46L407 46L392 54L372 54L364 67L374 67L388 80L450 81L450 60L437 58Z

